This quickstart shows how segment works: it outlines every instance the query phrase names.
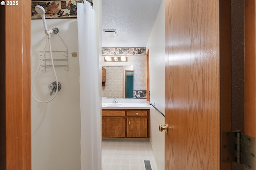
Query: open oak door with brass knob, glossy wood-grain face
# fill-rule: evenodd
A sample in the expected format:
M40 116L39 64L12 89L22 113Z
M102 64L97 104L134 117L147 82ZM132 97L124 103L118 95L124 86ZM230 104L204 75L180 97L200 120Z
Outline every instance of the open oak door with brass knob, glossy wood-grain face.
M165 170L220 169L220 113L230 107L220 105L230 97L220 9L219 0L165 1Z

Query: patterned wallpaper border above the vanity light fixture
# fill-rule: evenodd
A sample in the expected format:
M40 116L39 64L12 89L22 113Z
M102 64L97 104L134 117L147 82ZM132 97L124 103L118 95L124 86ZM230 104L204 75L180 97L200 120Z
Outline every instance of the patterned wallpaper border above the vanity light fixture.
M146 55L146 47L102 48L102 55Z

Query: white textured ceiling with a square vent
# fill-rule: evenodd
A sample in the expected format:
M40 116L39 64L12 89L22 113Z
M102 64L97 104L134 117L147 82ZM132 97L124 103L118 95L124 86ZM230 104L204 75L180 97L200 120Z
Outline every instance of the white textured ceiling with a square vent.
M146 47L162 0L102 0L102 47Z

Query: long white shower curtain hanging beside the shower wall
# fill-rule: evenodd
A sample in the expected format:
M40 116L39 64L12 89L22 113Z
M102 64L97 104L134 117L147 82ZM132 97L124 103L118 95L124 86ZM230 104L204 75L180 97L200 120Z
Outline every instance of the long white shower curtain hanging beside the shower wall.
M102 170L101 117L95 11L77 3L80 66L81 170Z

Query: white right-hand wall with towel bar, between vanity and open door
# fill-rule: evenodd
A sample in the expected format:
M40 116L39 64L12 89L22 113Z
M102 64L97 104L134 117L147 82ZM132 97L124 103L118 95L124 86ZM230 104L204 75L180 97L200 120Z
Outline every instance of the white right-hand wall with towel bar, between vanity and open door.
M164 1L160 6L154 27L146 48L149 49L150 103L164 113ZM164 170L164 132L158 126L164 125L164 117L150 107L150 141L159 170Z

